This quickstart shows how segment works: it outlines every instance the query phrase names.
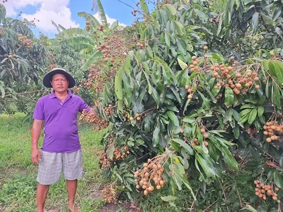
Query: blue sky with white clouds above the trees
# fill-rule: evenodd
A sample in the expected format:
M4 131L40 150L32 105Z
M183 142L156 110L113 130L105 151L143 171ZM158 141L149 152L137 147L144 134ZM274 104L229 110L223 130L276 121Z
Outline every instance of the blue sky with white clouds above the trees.
M112 24L116 20L122 26L130 26L137 17L134 17L130 8L126 4L136 8L138 0L100 0L104 8L108 23ZM78 16L79 12L87 12L94 15L99 20L99 14L92 11L93 0L7 0L3 3L7 10L6 17L16 18L20 12L19 19L26 18L33 20L35 18L36 28L33 29L36 36L42 32L48 37L54 37L57 33L51 20L64 28L84 28L85 19ZM39 20L39 22L37 21Z

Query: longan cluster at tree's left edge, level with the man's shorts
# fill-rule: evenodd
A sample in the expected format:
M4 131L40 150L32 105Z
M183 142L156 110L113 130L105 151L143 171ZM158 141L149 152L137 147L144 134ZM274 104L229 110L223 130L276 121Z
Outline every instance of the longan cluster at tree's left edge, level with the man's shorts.
M102 168L107 168L111 166L111 163L116 164L117 161L124 160L129 155L129 149L127 146L120 148L117 142L114 142L114 152L113 158L109 158L110 146L113 144L113 139L107 145L107 150L100 155L99 162L102 164Z

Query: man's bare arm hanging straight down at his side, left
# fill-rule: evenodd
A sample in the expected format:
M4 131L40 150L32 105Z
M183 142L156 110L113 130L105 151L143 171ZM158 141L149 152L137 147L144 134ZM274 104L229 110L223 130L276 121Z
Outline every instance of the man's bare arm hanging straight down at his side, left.
M41 120L35 119L31 129L31 159L35 164L39 164L37 158L41 160L40 151L38 150L38 140L41 133L42 122Z

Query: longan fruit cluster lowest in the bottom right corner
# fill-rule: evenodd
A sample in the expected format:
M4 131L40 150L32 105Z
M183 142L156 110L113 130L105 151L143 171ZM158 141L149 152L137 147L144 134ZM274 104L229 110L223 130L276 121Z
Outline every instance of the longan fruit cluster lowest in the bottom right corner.
M272 199L275 201L277 200L280 203L280 200L277 199L277 191L279 191L278 187L273 189L273 185L265 185L260 183L259 180L253 182L255 184L255 195L263 200L267 199L267 196L272 196Z

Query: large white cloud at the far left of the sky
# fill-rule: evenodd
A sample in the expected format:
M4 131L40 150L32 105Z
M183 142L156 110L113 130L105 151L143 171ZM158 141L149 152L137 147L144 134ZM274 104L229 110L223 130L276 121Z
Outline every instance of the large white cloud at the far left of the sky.
M35 13L23 13L22 17L28 20L33 20L34 18L39 20L39 22L35 24L36 27L43 32L57 32L51 20L65 28L79 27L79 24L71 18L71 10L68 4L69 0L8 0L4 3L8 16L16 15L15 9L21 9L28 5L38 6Z

